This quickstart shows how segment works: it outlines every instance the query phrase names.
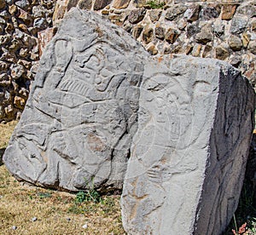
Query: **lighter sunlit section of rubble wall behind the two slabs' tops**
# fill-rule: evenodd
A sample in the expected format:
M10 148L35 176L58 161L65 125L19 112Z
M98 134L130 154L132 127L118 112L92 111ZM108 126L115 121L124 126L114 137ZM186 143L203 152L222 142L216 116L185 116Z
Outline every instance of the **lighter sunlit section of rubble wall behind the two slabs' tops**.
M122 26L150 54L225 60L255 86L256 1L59 0L55 25L76 5Z

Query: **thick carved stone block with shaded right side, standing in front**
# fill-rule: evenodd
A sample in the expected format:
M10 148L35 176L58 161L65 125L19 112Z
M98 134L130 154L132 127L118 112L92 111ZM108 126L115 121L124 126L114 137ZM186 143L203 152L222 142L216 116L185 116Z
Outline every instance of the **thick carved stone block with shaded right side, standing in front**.
M218 60L145 65L121 206L128 234L220 234L236 210L255 96Z

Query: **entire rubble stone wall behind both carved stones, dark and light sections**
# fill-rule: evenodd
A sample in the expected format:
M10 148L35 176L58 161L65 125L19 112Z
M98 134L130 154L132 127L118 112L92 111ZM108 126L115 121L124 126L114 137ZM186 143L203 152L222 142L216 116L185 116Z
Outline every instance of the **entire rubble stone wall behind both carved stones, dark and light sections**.
M225 60L255 87L255 0L0 0L0 122L20 116L52 20L57 27L75 6L123 27L150 54Z

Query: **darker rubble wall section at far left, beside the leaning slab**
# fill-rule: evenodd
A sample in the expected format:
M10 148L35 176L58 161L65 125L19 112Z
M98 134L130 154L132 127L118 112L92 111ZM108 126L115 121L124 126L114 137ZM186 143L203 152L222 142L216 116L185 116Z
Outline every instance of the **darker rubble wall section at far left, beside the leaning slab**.
M55 1L0 0L0 122L19 118L39 59L38 35Z

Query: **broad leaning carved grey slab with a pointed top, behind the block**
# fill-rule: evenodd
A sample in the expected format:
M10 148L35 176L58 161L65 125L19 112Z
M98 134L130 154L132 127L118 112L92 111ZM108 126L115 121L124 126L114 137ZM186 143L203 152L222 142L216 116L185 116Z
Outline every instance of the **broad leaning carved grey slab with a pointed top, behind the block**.
M69 191L121 188L145 55L118 26L72 9L45 49L3 156L10 172Z

